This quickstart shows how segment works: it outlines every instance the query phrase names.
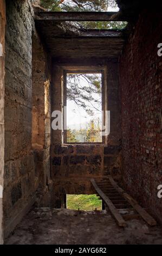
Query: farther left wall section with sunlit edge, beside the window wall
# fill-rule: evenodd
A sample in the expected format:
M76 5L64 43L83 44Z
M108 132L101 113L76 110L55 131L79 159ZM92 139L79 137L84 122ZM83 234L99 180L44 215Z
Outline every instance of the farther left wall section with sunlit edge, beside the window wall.
M38 205L49 205L51 111L50 84L51 60L45 53L37 33L33 34L33 108L32 148L35 155Z

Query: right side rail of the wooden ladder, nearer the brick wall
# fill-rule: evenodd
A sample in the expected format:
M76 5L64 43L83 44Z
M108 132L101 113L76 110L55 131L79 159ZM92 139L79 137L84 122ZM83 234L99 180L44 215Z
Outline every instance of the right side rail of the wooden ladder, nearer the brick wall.
M127 202L133 206L133 208L140 214L144 221L146 221L151 226L157 225L157 222L154 220L154 218L150 216L150 214L148 214L136 200L134 200L131 196L129 196L129 194L122 190L122 188L116 184L112 176L109 175L108 178L114 188L116 188L116 190L127 200Z

